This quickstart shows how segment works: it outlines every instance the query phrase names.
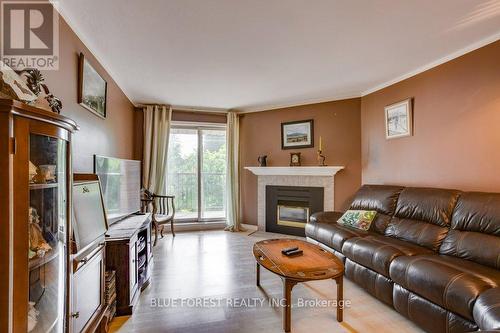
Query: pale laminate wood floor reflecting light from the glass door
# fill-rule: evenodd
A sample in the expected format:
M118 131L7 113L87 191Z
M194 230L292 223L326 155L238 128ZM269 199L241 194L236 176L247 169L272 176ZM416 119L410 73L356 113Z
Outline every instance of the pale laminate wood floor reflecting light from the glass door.
M262 288L256 287L252 254L256 241L275 237L264 232L248 235L224 231L165 236L154 250L151 285L142 293L133 316L115 318L111 331L283 332L281 309L268 305L281 299L281 279L261 269ZM332 280L300 283L292 292L294 303L335 300L335 288ZM343 323L336 321L332 306L294 307L292 332L422 332L348 279L344 279L344 297L351 306L344 309ZM260 302L258 299L263 300L263 306L236 303L254 305ZM193 307L197 300L212 304Z

